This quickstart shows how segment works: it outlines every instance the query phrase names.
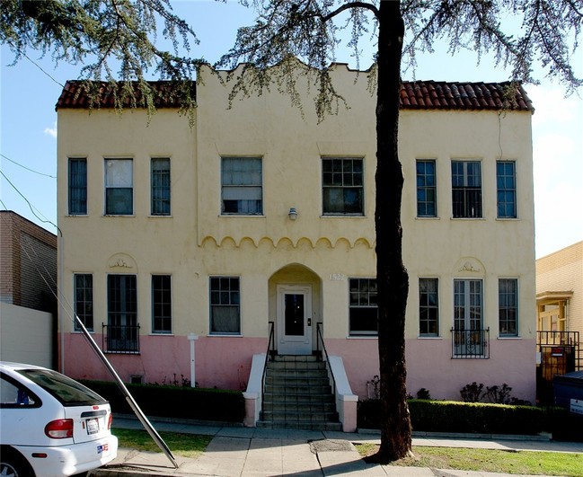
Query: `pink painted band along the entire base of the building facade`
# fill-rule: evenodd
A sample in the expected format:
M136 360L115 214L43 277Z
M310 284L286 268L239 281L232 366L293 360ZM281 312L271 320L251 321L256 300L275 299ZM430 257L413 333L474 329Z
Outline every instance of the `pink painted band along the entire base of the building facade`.
M94 340L102 343L102 336ZM265 338L199 337L195 340L196 382L200 387L244 391L252 356L264 353ZM377 340L326 340L330 355L344 362L352 392L360 400L372 396L367 382L378 375ZM140 336L139 355L108 354L121 379L143 376L144 383L172 384L190 379L190 341L186 336ZM452 359L449 340L407 340L407 388L413 396L428 389L434 399L460 400L465 384L508 384L511 395L534 403L534 340L490 340L489 359ZM65 372L75 378L111 380L84 336L65 337Z

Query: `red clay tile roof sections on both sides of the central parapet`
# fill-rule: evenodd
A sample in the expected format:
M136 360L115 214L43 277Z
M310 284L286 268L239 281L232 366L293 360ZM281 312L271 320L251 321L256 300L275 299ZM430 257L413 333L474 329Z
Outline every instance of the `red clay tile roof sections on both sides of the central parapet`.
M91 100L84 89L82 81L67 81L63 92L58 98L56 109L78 108L88 109ZM99 86L100 100L93 104L95 108L114 108L115 96L111 84L93 83ZM179 96L173 94L175 83L170 81L148 82L156 93L156 108L180 108ZM134 83L137 107L140 104L141 93ZM505 95L508 94L508 98ZM191 97L196 98L195 84L192 84ZM508 100L508 101L507 101ZM126 98L124 107L130 106ZM405 81L400 93L402 110L530 110L533 104L522 86L511 88L511 83L450 83L445 81Z

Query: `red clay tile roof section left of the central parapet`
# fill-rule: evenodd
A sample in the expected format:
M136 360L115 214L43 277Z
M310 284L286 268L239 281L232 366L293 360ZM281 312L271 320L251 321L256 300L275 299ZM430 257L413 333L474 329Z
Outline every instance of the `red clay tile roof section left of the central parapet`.
M102 82L90 82L92 86L95 87L95 102L92 104L89 93L87 92L84 81L67 81L61 95L58 98L56 110L59 109L89 109L93 108L115 108L116 104L116 94L118 97L122 97L121 84L117 91L114 89L112 84L102 81ZM156 108L181 108L183 103L181 102L180 96L176 94L176 83L172 81L148 81L155 93L154 104ZM136 106L138 108L146 107L143 102L143 95L137 87L137 82L132 82L134 89L134 94L136 98ZM196 100L196 84L191 84L190 97L192 101ZM99 101L97 101L99 98ZM132 100L128 95L124 95L124 100L122 106L124 108L129 108L132 105Z

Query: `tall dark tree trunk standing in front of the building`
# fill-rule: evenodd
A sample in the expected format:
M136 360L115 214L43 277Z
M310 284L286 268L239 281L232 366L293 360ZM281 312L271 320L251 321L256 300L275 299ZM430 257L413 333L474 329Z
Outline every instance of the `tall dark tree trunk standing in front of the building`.
M381 446L376 460L411 454L405 380L405 308L409 278L402 263L402 166L398 155L399 91L404 24L401 4L379 7L376 98L376 279L381 398Z

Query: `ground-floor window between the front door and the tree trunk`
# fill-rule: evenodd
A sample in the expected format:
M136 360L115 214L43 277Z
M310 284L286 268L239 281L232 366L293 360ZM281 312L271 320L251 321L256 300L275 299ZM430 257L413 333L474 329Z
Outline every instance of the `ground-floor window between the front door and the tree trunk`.
M349 334L378 333L378 294L375 278L350 278Z

